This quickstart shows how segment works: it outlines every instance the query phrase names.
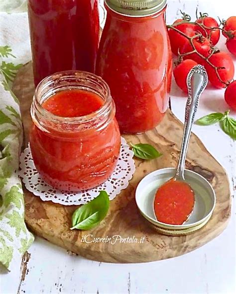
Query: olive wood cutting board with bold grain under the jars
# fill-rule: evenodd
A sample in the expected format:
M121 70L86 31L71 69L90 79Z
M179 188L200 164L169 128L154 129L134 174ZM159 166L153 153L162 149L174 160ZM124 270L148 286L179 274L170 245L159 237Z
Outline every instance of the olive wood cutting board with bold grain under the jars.
M34 93L31 63L23 66L14 81L13 92L19 98L24 126L24 147L28 143L31 125L29 113ZM140 216L135 204L135 188L148 173L163 167L175 167L179 158L183 124L168 110L164 120L154 130L140 135L125 135L127 142L148 143L163 155L145 161L135 159L136 171L128 187L111 201L109 213L99 226L90 231L70 230L71 216L76 206L43 202L24 188L25 221L29 229L48 241L88 259L113 263L138 263L166 259L190 252L218 236L227 226L231 214L229 180L224 168L192 134L186 168L204 176L213 185L217 202L210 221L200 230L185 236L165 236L153 230ZM93 238L130 237L139 243L86 243L84 235ZM90 241L90 240L89 240Z

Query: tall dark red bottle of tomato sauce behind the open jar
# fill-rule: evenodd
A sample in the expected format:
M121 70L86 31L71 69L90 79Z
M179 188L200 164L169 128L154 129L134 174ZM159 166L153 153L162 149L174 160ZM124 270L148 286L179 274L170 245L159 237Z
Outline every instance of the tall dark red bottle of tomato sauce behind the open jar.
M60 71L95 72L98 0L28 0L35 86Z

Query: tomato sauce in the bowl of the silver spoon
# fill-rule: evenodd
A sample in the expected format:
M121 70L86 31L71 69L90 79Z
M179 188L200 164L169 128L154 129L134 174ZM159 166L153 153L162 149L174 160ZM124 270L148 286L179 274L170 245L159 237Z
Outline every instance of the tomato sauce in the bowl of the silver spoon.
M168 224L183 224L194 208L194 192L181 181L169 180L156 192L154 212L157 221Z

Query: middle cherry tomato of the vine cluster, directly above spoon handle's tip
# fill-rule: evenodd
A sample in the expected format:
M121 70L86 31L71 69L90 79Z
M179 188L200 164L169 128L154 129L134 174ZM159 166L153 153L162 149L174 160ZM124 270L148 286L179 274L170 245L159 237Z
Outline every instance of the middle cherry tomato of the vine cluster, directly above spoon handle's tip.
M197 52L208 57L211 53L211 42L207 38L195 38L193 39L193 45L196 48ZM193 47L190 42L185 43L185 45L180 48L180 53L185 54L193 51ZM192 53L183 57L183 59L192 59L199 64L203 64L204 60L197 54Z

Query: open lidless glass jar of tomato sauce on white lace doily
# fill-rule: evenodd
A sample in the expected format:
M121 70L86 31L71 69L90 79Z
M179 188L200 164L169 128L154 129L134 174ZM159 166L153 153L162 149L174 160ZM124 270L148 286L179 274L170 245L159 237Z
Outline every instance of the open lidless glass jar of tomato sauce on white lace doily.
M120 133L115 103L102 78L79 71L46 77L36 88L31 117L32 157L49 185L81 191L113 173Z

